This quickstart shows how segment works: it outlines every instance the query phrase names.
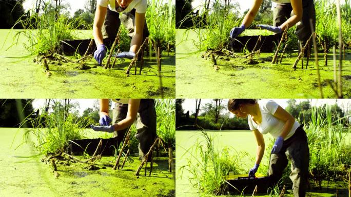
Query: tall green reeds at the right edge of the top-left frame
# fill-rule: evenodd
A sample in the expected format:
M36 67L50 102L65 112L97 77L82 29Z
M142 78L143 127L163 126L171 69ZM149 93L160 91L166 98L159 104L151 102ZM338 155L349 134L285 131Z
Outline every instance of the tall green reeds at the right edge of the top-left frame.
M162 0L151 0L146 12L149 38L155 52L158 49L175 45L175 6L171 0L163 4Z

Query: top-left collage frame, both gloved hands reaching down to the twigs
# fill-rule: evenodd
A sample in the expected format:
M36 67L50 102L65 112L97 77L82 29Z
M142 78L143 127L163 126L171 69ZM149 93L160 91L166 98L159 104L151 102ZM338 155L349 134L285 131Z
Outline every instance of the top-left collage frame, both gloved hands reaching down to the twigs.
M175 2L0 4L0 97L174 98Z

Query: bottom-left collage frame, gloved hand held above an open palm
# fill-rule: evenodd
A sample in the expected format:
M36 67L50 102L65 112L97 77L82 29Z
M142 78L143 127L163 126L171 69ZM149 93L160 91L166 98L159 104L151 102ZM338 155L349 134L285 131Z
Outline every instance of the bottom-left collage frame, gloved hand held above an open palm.
M0 111L0 196L175 196L173 99L2 99Z

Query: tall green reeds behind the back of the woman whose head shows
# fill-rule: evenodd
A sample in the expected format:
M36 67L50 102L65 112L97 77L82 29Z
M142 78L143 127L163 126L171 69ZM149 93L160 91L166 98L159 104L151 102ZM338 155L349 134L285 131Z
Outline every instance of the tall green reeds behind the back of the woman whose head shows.
M343 166L351 164L351 147L345 141L350 130L344 121L349 117L340 117L329 105L311 108L311 120L305 126L310 152L309 170L319 184L322 179L336 178L339 173L345 175Z

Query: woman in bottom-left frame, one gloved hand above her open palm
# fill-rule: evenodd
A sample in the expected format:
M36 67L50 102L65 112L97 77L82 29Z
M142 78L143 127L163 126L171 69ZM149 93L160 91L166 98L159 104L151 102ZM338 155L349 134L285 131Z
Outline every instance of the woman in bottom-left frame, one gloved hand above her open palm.
M139 156L149 151L156 138L156 111L153 99L113 99L113 124L109 116L109 100L100 100L100 125L91 128L94 131L113 132L114 137L122 142L127 129L134 123L135 138L139 140Z

